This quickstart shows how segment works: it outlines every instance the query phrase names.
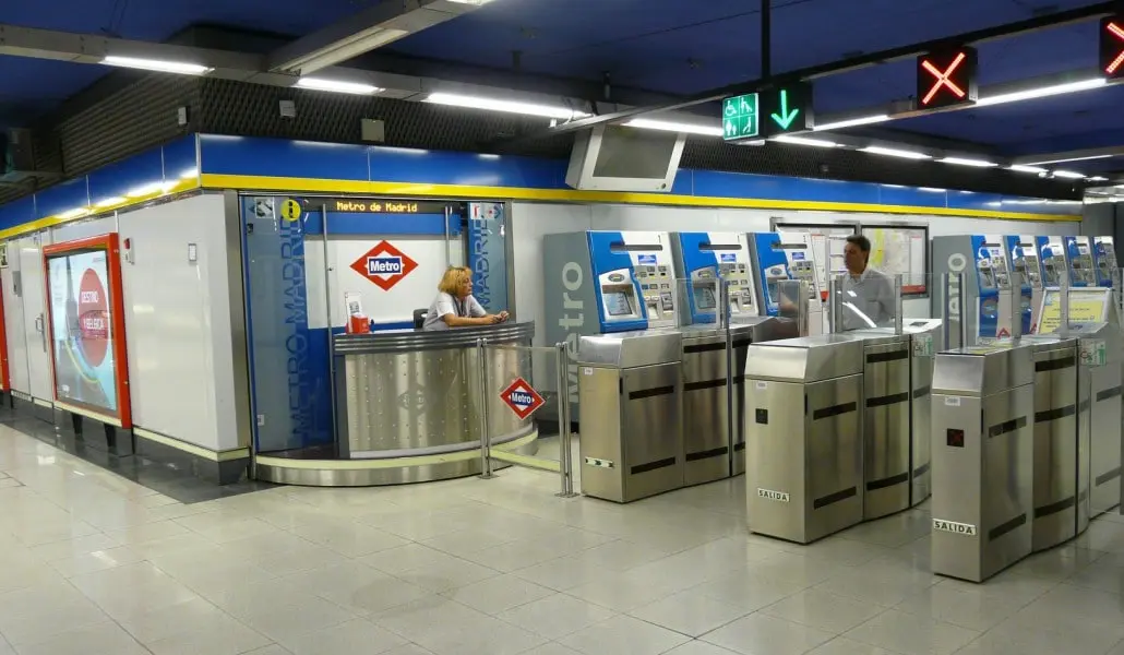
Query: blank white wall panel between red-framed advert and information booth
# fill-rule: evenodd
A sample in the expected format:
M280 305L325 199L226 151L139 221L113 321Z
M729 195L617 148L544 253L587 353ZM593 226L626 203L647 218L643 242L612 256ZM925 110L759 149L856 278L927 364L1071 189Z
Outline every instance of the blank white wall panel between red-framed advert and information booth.
M239 446L234 377L232 285L225 204L199 195L120 215L133 420L137 427L212 451ZM198 261L189 262L188 245ZM234 273L232 276L230 274Z

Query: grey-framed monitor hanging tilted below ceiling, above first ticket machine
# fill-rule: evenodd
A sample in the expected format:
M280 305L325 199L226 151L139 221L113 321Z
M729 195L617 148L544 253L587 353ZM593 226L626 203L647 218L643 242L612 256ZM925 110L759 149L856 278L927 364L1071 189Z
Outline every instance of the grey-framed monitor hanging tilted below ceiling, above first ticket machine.
M581 131L570 153L565 183L593 191L668 193L686 143L682 134L619 125Z

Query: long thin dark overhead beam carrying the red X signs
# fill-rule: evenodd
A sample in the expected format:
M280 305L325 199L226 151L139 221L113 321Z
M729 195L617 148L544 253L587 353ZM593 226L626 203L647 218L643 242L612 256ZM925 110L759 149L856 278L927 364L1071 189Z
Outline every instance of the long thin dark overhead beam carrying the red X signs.
M660 113L664 111L688 109L690 107L695 107L696 104L716 102L732 95L753 93L755 91L760 91L762 88L768 88L769 85L773 84L787 84L803 80L816 80L818 78L826 78L830 75L858 71L861 69L867 69L879 64L886 64L899 60L916 57L917 55L922 55L935 49L941 49L942 47L948 47L950 45L955 46L955 45L980 44L989 40L997 40L1016 36L1019 34L1027 34L1032 31L1039 31L1042 29L1061 27L1063 25L1070 25L1073 22L1084 22L1087 20L1093 20L1096 18L1102 18L1104 16L1113 15L1120 11L1121 7L1122 7L1121 0L1109 0L1106 2L1098 2L1096 4L1079 7L1077 9L1070 9L1068 11L1059 11L1057 13L1036 16L1034 18L1021 20L1017 22L1010 22L1007 25L988 27L985 29L977 29L973 31L967 31L959 35L927 40L924 43L889 48L876 53L869 53L855 57L850 57L840 62L818 64L805 69L797 69L794 71L788 71L786 73L780 73L769 78L759 78L756 80L751 80L747 82L737 82L734 84L727 84L725 87L718 87L716 89L710 89L709 91L703 91L700 93L696 93L678 102L671 102L659 106L649 106L649 107L633 107L622 111L616 111L614 113L592 116L589 118L573 120L564 125L559 125L552 128L547 128L542 133L528 135L528 137L526 138L549 138L562 133L581 130L606 122L620 122L629 118L635 118L643 113Z

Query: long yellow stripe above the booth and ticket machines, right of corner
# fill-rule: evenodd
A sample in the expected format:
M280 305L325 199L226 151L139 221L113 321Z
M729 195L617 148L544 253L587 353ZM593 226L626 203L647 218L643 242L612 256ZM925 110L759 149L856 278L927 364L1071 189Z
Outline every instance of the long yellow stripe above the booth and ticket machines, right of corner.
M477 187L426 184L414 182L363 182L355 180L320 180L311 178L269 178L256 175L202 175L206 189L270 191L285 193L362 193L371 195L417 195L444 199L531 200L540 202L601 202L619 204L662 204L677 207L713 207L724 209L791 209L846 212L881 212L896 215L961 216L1001 220L1078 222L1080 216L1059 213L1024 213L987 209L950 209L906 204L865 204L860 202L824 202L817 200L769 200L755 198L720 198L670 195L663 193L628 193L619 191L579 191L577 189L526 189L518 187Z

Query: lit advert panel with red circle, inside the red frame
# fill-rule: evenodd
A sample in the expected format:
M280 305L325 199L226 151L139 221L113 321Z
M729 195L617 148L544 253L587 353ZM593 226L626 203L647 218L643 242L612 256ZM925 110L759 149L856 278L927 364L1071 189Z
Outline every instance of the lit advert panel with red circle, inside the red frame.
M52 255L47 278L58 399L117 416L118 336L106 251Z

